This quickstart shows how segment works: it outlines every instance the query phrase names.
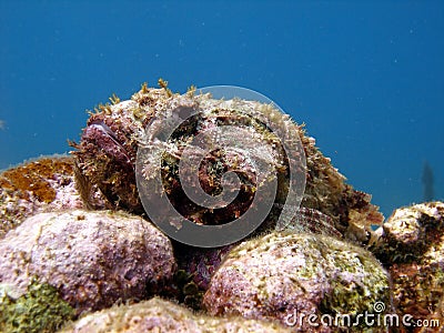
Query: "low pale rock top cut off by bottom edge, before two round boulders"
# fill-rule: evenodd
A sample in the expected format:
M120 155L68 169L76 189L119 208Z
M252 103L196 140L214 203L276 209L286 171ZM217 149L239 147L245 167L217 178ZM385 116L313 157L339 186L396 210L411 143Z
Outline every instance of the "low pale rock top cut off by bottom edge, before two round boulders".
M279 323L243 317L211 317L194 314L178 304L151 299L132 305L113 306L69 324L60 333L89 332L193 332L193 333L290 333Z

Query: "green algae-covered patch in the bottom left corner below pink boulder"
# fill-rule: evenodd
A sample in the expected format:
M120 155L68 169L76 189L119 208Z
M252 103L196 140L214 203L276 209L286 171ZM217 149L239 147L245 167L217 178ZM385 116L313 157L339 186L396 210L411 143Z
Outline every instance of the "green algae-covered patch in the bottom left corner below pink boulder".
M19 297L0 284L0 332L56 332L73 315L74 310L49 284L33 280Z

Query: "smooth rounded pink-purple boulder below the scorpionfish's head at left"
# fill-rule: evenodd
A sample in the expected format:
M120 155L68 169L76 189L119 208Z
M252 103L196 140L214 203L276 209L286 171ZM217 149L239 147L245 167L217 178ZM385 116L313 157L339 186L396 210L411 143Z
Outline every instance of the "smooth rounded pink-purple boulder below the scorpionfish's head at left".
M0 283L24 293L37 276L77 314L147 297L174 270L170 240L142 218L122 212L40 213L0 240Z

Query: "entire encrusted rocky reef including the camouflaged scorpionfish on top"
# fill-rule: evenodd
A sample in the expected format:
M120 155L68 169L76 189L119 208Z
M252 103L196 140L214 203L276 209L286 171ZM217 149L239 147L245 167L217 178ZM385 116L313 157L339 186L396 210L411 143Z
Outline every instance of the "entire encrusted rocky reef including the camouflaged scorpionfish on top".
M353 332L438 330L370 325L361 315L444 323L443 203L400 209L373 231L383 216L371 195L347 184L304 127L279 118L275 105L194 88L180 94L159 83L90 112L80 141L71 142L73 157L0 173L0 331L56 332L64 324L63 332L344 332L347 317L361 317ZM168 140L147 140L170 122L179 125ZM274 133L272 123L284 131ZM239 129L223 141L234 152L208 150L198 168L181 173L199 155L189 143L226 128ZM249 145L246 135L268 148ZM290 154L286 142L302 149ZM293 164L305 191L289 203L299 195ZM182 244L144 210L149 193L138 178L151 184L155 174L161 183L143 191L163 195L199 226L223 228L268 201L271 209L236 242ZM230 203L195 204L198 186ZM259 195L263 189L275 193ZM278 229L283 214L289 219ZM340 323L330 321L337 316Z

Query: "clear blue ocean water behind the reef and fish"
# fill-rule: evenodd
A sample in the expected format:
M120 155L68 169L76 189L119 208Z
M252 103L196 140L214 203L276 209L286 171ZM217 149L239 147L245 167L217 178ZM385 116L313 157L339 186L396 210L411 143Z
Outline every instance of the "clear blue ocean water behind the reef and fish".
M443 1L0 0L0 169L159 77L274 100L385 215L444 198Z

